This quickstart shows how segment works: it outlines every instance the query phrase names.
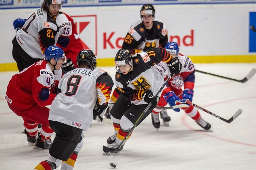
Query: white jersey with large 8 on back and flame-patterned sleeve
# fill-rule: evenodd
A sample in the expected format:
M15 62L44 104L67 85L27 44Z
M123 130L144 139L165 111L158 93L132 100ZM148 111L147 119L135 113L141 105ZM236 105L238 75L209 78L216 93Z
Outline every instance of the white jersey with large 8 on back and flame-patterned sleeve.
M87 130L96 99L100 105L108 102L112 86L111 77L103 70L71 70L59 82L61 93L51 104L49 120Z

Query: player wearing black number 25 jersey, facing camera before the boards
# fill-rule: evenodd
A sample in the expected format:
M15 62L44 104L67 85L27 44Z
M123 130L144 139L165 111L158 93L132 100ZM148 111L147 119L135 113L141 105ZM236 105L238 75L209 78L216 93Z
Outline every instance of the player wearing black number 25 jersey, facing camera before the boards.
M164 47L167 42L168 35L166 25L159 19L155 19L155 8L152 4L144 4L140 10L140 20L131 24L124 39L122 49L129 49L135 54L150 48ZM115 89L111 95L110 102L115 102L119 95L119 91ZM110 118L112 106L113 105L109 104L105 113L106 118ZM163 118L165 122L170 121L166 110L160 109L160 111L161 118ZM153 122L154 120L156 121L155 123ZM158 114L152 114L152 123L154 126L159 123Z

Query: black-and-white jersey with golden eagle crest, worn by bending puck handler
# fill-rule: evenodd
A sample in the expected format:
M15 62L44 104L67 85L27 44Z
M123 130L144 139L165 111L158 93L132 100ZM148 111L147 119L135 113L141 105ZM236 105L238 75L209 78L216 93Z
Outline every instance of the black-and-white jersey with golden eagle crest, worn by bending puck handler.
M120 94L134 104L146 104L142 94L151 90L156 94L164 83L161 73L155 68L155 63L172 60L171 55L164 48L152 48L133 57L133 71L127 75L116 72L116 87Z

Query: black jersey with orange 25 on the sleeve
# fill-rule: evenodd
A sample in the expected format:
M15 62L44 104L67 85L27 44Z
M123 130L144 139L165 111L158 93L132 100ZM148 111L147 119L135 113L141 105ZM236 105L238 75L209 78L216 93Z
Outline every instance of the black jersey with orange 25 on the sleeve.
M165 24L158 20L153 20L153 27L147 30L141 20L134 22L126 34L122 49L145 51L146 49L164 47L168 42L168 35Z

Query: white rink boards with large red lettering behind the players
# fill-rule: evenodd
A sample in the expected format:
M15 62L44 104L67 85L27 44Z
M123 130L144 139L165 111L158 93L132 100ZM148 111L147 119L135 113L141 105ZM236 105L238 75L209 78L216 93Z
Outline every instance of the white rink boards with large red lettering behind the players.
M81 40L97 58L114 58L141 6L63 7L73 16ZM14 63L12 39L16 18L28 18L36 9L0 10L0 63ZM186 55L248 55L249 12L256 4L155 5L156 18L167 27L169 40L180 42ZM172 38L172 39L171 39ZM254 53L255 55L255 53Z

